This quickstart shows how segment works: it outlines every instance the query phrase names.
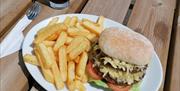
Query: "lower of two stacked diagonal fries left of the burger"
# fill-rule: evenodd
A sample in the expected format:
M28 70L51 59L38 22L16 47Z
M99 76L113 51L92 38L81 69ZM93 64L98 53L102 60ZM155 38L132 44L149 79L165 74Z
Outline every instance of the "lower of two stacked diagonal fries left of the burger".
M85 42L81 42L81 44L73 49L70 53L69 53L69 58L70 60L74 60L77 56L79 56L83 51L85 51L87 48L87 45Z

